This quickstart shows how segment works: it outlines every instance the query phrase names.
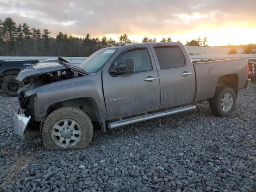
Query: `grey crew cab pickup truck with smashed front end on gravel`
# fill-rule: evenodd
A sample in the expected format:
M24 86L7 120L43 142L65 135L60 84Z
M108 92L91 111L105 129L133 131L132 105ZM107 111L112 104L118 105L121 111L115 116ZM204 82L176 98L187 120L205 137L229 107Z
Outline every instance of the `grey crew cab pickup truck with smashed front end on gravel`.
M62 58L22 70L14 132L39 132L46 148L85 148L93 124L116 128L196 108L208 100L227 117L238 90L248 88L246 58L193 64L180 42L111 46L79 66Z

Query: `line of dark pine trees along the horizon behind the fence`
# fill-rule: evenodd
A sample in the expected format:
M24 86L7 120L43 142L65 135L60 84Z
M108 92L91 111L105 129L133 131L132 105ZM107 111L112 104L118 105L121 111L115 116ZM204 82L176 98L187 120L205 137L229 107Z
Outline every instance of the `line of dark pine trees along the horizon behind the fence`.
M116 43L137 43L127 34L119 36L116 42L106 36L94 38L89 33L82 38L62 32L52 37L50 33L48 29L30 28L26 23L17 25L10 17L0 20L0 56L90 56L96 50ZM142 39L142 42L156 41L156 38L147 36ZM172 38L162 38L160 42L172 42ZM206 36L202 40L200 37L192 39L185 46L208 46L208 39ZM244 53L253 53L255 48L255 44L250 44L244 48Z

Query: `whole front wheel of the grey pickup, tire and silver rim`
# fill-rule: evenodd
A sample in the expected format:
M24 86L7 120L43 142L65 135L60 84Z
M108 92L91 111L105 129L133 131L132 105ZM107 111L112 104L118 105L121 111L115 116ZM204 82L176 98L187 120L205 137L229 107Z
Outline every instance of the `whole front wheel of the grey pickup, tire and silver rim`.
M49 150L86 148L92 141L92 135L89 116L74 107L53 111L42 127L42 141Z

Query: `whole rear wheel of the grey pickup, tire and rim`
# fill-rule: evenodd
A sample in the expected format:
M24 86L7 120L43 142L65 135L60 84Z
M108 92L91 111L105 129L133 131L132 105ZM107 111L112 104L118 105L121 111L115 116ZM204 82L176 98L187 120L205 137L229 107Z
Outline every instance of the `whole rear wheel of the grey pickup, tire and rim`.
M210 110L214 115L228 117L236 106L236 93L231 87L217 87L214 97L208 100Z

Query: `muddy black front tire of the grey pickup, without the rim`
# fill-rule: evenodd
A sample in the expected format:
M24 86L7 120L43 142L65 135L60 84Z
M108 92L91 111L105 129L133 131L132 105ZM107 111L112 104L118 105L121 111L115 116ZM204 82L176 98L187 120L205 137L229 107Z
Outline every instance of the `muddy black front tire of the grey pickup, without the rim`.
M74 120L82 130L82 134L81 134L82 136L80 137L81 140L74 146L68 146L68 147L58 146L56 144L56 139L54 138L55 136L52 136L52 130L54 125L56 126L56 123L64 119ZM71 131L71 128L70 128L70 131ZM86 148L92 141L92 135L93 135L93 126L92 126L92 121L90 120L90 117L82 110L74 107L62 107L53 111L44 121L44 124L42 127L42 133L41 133L44 146L48 150L58 150L58 149L67 150L67 149ZM60 137L57 136L57 140L58 138ZM68 139L68 138L65 138L65 139ZM66 140L65 140L65 143L66 143Z

